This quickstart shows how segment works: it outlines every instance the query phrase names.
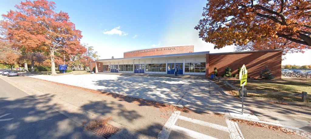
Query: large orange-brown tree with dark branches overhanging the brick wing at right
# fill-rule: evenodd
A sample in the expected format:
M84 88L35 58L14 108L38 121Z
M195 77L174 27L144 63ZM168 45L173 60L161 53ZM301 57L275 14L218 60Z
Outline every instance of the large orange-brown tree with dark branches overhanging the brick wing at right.
M310 49L310 15L309 0L208 0L195 29L199 38L215 44L215 49L269 40L264 38L283 38L280 41Z

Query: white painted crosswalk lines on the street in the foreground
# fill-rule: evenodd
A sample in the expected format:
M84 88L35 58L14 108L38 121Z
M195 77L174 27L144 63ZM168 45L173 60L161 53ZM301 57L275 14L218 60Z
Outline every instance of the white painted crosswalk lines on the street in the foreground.
M202 126L228 132L230 134L231 139L244 139L242 132L240 131L240 128L236 122L226 119L226 123L228 127L225 127L225 126L221 126L218 124L208 123L205 121L181 116L180 111L175 111L173 114L171 114L171 117L169 117L169 119L166 121L165 125L163 126L162 130L158 134L158 139L168 139L169 134L171 133L172 130L182 133L184 135L193 137L193 138L197 138L197 139L201 139L201 138L202 139L215 139L215 137L211 137L211 136L199 133L199 132L189 130L187 128L176 126L175 123L177 119L181 119L187 122L196 123Z

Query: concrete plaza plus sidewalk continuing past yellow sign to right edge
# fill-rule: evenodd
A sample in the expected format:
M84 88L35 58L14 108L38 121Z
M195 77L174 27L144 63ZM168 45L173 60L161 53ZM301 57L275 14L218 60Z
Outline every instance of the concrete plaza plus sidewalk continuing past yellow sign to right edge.
M27 74L24 74L27 76ZM191 110L254 121L267 121L311 132L311 108L271 102L244 100L227 96L208 79L145 77L107 74L30 75L78 87L84 87L161 103L186 106Z

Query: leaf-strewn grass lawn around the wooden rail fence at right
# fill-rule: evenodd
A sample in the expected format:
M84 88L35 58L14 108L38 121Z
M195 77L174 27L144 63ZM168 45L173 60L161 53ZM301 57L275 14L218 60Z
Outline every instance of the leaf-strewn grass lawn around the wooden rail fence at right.
M235 87L240 87L240 81L236 79L223 79L228 81ZM217 83L217 81L216 81ZM221 85L223 83L217 83ZM280 80L264 80L264 79L248 79L247 85L244 86L247 90L253 91L265 91L265 92L285 92L285 93L299 93L307 92L308 96L311 96L311 79L307 78L292 78L284 77ZM230 91L234 89L227 88ZM234 91L237 95L238 92ZM292 96L279 96L279 95L264 95L264 94L253 94L247 93L249 97L264 98L278 101L299 101L301 102L301 97ZM311 98L309 98L309 103L311 103Z

